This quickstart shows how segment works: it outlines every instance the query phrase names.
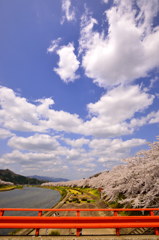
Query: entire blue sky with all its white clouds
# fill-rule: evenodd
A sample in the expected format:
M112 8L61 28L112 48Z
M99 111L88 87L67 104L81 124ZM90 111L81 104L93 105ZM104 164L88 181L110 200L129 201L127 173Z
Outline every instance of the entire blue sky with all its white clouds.
M79 179L158 136L159 1L0 1L0 168Z

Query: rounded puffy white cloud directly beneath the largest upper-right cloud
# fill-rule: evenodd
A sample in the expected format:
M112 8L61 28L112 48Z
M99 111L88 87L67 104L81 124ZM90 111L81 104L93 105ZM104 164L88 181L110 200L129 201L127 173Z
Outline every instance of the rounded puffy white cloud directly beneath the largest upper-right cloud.
M153 103L154 96L142 91L138 85L117 87L108 91L96 103L87 105L90 114L105 117L110 123L130 119Z

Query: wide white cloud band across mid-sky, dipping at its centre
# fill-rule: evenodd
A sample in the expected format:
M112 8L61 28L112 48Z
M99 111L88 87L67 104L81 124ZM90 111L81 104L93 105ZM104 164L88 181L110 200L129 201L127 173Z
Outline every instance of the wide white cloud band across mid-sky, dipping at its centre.
M52 98L38 99L30 103L17 96L13 90L0 88L0 124L6 130L46 133L52 129L60 132L83 134L95 137L117 137L133 133L138 119L153 103L154 96L139 86L119 86L107 91L99 101L87 105L89 119L82 120L77 114L53 109ZM140 103L140 104L139 104ZM156 123L157 112L149 113L151 120L139 119L142 124ZM151 117L150 117L151 116ZM129 121L129 122L128 122ZM37 139L37 137L36 137ZM34 139L35 140L35 137ZM80 146L88 140L72 140L67 144Z

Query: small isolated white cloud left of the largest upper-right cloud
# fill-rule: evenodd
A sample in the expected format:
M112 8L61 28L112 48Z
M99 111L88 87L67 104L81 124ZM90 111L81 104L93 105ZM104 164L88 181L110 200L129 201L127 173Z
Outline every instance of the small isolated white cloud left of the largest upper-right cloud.
M62 46L57 54L59 55L58 68L54 68L54 71L60 76L60 78L68 83L75 81L79 76L75 74L80 62L77 60L74 54L74 46L69 43L67 46Z

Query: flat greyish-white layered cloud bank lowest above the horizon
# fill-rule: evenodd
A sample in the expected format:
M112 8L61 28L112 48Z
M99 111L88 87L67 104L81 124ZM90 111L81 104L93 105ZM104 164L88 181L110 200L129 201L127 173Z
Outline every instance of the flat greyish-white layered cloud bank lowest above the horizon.
M63 145L62 141L70 142L70 146ZM87 148L83 144L87 144ZM57 136L35 134L30 137L14 136L8 142L13 148L10 153L3 154L0 158L0 165L16 164L19 169L26 171L59 172L73 178L81 177L78 169L89 169L87 172L94 174L97 165L101 169L107 162L118 163L122 158L128 157L131 148L145 144L144 139L93 139L60 138ZM48 167L49 166L49 167ZM65 166L65 167L64 167ZM84 167L82 167L84 166ZM61 170L60 170L61 169ZM87 173L83 170L83 175Z

